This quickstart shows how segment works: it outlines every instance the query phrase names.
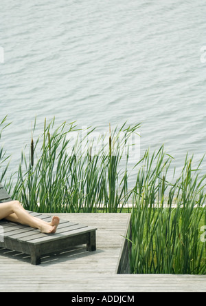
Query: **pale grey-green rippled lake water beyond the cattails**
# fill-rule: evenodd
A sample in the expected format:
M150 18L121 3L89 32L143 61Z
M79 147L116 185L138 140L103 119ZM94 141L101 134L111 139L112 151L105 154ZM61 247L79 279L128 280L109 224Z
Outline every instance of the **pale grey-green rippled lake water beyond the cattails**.
M201 159L205 16L203 0L1 0L0 120L12 121L1 143L11 169L35 116L37 134L45 117L100 132L141 122L141 154L164 143L177 169L187 152Z

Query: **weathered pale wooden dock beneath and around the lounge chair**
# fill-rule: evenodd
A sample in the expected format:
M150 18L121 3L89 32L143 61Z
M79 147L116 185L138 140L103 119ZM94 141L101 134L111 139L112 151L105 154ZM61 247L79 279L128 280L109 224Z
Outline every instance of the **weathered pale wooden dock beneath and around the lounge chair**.
M45 256L0 249L0 292L206 292L206 276L117 274L130 214L58 214L97 227L97 251L86 245Z

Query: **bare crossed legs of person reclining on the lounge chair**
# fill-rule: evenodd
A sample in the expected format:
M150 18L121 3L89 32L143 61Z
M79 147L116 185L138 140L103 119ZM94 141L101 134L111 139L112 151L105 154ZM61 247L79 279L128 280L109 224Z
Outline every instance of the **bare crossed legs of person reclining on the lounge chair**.
M54 216L51 223L47 223L39 218L31 216L21 206L19 201L12 201L1 203L0 206L0 220L2 218L8 221L29 225L30 227L37 228L45 234L54 234L59 224L59 218Z

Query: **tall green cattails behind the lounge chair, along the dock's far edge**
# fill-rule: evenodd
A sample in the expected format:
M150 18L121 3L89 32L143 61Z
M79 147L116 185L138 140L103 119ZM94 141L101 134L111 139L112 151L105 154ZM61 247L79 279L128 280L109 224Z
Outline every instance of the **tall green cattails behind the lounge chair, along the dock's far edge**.
M34 125L30 145L30 162L22 154L19 165L19 194L15 194L25 208L39 212L117 212L128 204L127 162L121 169L124 146L132 128L126 124L111 132L109 126L108 146L100 147L92 156L77 137L70 147L70 132L78 132L73 123L62 123L54 128L55 119L49 124L45 119L43 134L34 145ZM133 127L137 130L139 125ZM87 136L94 129L87 130ZM120 136L124 132L124 136ZM101 137L100 137L101 141ZM87 143L88 145L88 143ZM69 154L69 152L71 152ZM35 154L35 164L34 164ZM126 157L128 160L128 156Z

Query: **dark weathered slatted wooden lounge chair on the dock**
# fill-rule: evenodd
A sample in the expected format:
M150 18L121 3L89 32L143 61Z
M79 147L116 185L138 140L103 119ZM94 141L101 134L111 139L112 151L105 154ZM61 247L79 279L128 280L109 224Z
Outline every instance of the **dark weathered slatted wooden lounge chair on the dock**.
M0 183L0 202L9 201L12 201L12 198ZM29 213L47 222L51 220L51 217L45 216L45 214ZM95 234L97 229L69 221L60 220L56 234L42 234L32 227L6 220L0 221L0 229L0 248L30 254L32 265L40 265L43 255L59 252L73 245L87 244L89 252L96 249Z

